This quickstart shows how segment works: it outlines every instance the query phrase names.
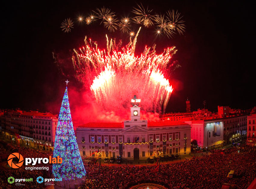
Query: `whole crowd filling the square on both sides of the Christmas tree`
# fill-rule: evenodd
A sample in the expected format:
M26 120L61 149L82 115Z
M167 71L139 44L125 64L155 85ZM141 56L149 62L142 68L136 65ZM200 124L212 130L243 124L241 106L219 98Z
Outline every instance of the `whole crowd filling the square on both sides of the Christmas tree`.
M156 183L172 189L221 188L222 184L236 184L238 189L247 188L256 178L256 148L251 146L232 147L226 150L214 150L207 155L185 159L171 164L134 166L96 166L85 164L86 180L80 189L128 189L141 183ZM15 147L23 158L49 158L52 152L36 149ZM239 150L239 152L238 152ZM10 152L0 148L0 154ZM0 188L10 188L7 177L36 178L42 176L51 178L51 165L46 170L12 169L6 166L6 160L1 162ZM4 167L5 166L5 167ZM227 178L230 170L235 171L234 178ZM26 182L18 189L41 188L37 182Z

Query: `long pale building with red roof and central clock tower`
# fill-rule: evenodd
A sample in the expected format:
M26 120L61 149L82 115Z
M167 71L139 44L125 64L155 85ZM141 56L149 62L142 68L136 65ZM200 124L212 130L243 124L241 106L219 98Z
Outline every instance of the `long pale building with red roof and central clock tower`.
M87 123L77 128L76 135L80 154L86 157L94 157L96 151L100 151L102 157L122 156L129 160L147 159L159 153L190 153L189 124L141 120L137 103L131 107L131 120Z

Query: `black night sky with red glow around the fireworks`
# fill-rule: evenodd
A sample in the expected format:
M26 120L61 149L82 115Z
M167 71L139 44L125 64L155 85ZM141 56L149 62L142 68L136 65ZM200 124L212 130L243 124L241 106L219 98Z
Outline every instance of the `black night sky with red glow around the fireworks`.
M41 3L39 3L41 2ZM206 107L217 111L218 105L248 109L256 106L255 98L255 20L251 4L243 1L136 1L144 2L156 12L178 10L184 15L186 32L172 39L142 29L138 52L156 43L157 52L167 46L178 51L172 60L181 67L169 77L176 83L167 111L185 111L190 99L192 110ZM74 21L89 16L97 7L109 7L119 16L129 16L134 1L4 1L1 3L1 100L0 108L53 111L59 104L65 82L78 85L59 73L52 57L55 52L71 65L72 49L83 44L84 36L105 48L105 34L127 40L127 35L109 33L101 25L75 24L71 33L63 33L60 23L68 17ZM68 66L67 66L68 67ZM70 68L70 70L71 70ZM69 69L67 69L69 70ZM71 97L69 97L71 98ZM59 109L60 107L58 107Z

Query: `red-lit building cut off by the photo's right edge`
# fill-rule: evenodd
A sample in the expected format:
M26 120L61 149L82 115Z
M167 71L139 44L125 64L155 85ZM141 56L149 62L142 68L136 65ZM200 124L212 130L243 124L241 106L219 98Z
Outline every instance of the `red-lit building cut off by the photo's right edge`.
M246 144L256 146L256 108L247 117L247 140Z

